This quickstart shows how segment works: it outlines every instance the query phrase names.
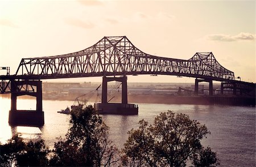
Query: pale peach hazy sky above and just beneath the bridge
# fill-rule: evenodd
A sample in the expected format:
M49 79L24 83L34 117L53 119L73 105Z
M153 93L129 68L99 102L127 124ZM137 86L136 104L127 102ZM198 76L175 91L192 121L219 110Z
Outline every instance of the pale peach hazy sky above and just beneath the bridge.
M213 52L236 77L255 82L255 1L0 0L0 66L10 66L11 74L22 58L77 52L104 36L127 36L143 52L162 57ZM128 76L129 82L193 80Z

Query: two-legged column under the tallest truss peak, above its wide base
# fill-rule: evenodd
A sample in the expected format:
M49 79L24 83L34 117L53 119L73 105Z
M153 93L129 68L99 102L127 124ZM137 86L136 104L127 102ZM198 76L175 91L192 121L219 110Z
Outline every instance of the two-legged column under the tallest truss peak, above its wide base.
M118 81L122 82L122 104L127 104L127 76L123 76L121 78L116 77L106 77L103 76L102 78L102 95L101 95L101 102L103 104L108 103L108 82L111 81Z

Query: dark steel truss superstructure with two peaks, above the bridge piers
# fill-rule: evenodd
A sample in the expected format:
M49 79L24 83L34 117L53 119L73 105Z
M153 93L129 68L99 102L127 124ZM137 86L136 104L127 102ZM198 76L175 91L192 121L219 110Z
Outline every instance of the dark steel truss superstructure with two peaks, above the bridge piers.
M222 67L212 52L196 53L188 60L158 57L142 52L126 36L104 37L95 45L75 53L23 58L16 71L16 77L20 79L139 74L234 80L234 72Z

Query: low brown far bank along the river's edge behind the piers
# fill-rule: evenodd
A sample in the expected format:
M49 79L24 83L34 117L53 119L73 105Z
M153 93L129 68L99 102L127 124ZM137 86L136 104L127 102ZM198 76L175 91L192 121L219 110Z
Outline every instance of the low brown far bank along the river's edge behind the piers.
M10 95L2 95L10 98ZM109 99L112 96L109 96ZM23 96L22 99L34 99L31 96ZM76 96L47 96L43 95L43 100L69 100L75 101ZM86 99L86 98L85 98ZM85 100L80 99L80 100ZM101 101L101 97L92 96L86 99L92 102ZM121 96L115 96L110 102L121 102ZM197 104L197 105L234 105L234 106L255 106L255 97L246 96L152 96L152 95L128 95L129 103L154 103L154 104Z

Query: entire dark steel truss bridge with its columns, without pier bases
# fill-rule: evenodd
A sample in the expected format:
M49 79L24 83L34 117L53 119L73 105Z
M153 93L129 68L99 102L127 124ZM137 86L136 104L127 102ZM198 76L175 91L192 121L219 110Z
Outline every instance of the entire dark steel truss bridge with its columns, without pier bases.
M225 85L233 88L234 95L237 89L240 89L240 93L255 89L253 83L235 80L234 72L221 66L212 52L196 53L188 60L158 57L142 52L126 36L114 36L103 37L93 46L75 53L22 58L15 75L0 76L0 93L11 93L11 111L16 111L17 96L30 95L36 97L36 110L42 112L41 79L102 76L108 82L120 80L115 79L115 76L142 74L196 78L195 95L198 93L199 82L208 82L209 95L213 95L213 80L222 82L222 93ZM107 76L112 78L106 79ZM122 80L125 85L126 82L127 79ZM106 102L107 88L104 87L102 103ZM126 100L122 100L122 103L127 103L127 90L124 92L122 97Z

